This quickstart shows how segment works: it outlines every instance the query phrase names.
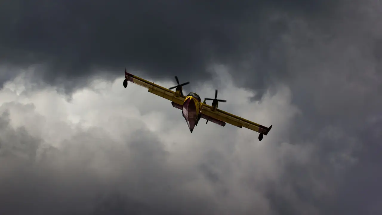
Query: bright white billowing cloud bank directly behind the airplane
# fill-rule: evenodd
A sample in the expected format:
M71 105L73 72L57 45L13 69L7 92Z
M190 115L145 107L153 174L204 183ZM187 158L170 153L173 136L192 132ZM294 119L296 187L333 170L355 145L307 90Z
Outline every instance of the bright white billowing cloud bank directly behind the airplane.
M11 127L24 127L42 144L37 144L34 169L26 173L20 170L23 162L1 162L0 168L8 169L2 175L44 180L45 186L57 191L34 197L37 203L51 198L51 204L68 207L77 199L87 202L83 210L91 210L96 194L117 190L126 201L152 208L167 205L169 211L271 214L275 209L267 197L269 184L282 183L289 164L309 165L314 147L287 143L288 134L295 132L290 125L300 114L291 104L287 86L280 86L274 95L265 94L261 103L251 102L253 91L235 86L224 67L217 70L213 83L193 83L191 90L204 98L213 96L212 84L219 86L219 98L228 100L220 109L265 126L273 124L262 142L256 132L228 124L201 122L191 134L180 110L133 83L123 88L123 78L112 83L94 80L68 102L55 88L32 89L19 76L0 91L0 113L8 110ZM15 147L29 144L15 142L8 130L2 131L0 151L14 153ZM49 146L57 149L46 150ZM33 150L36 147L24 152ZM10 166L17 170L9 172ZM13 186L7 190L19 192ZM56 192L63 192L61 203L52 203ZM302 204L295 198L289 203Z

